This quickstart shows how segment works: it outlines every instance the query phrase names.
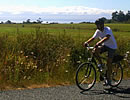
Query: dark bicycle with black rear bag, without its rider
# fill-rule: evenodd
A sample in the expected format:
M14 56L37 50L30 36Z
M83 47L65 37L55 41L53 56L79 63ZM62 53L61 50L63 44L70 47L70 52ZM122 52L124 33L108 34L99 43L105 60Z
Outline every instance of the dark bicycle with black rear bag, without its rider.
M94 47L87 47L87 51L93 50ZM100 57L101 59L105 60L106 58ZM120 60L116 60L120 58ZM114 56L112 61L112 82L109 84L111 87L117 87L123 78L123 68L120 64L120 61L123 59L123 56L117 55ZM96 67L94 66L96 65ZM96 83L97 79L97 70L98 69L100 76L103 79L106 79L106 73L104 73L105 69L103 68L102 71L98 68L98 63L95 60L94 53L91 54L91 57L88 58L88 62L81 63L76 71L76 85L83 91L90 90Z

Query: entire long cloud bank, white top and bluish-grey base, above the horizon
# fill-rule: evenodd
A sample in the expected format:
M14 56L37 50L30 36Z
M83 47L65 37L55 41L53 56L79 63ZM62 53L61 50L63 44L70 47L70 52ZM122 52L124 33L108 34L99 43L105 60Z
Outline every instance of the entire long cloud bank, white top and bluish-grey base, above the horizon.
M81 22L95 21L97 18L111 18L114 10L89 8L86 6L68 7L38 7L38 6L0 6L0 21L24 21L28 18L36 20L42 18L44 21L66 21Z

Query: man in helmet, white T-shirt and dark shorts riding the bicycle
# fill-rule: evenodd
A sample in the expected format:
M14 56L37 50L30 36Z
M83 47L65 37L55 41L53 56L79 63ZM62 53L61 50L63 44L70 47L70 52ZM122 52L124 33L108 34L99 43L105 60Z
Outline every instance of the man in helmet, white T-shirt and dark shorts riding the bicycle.
M117 49L117 43L110 27L104 27L104 20L100 18L95 21L95 24L97 26L97 30L95 31L94 35L88 41L84 43L84 46L88 46L88 44L96 38L100 39L100 41L98 41L96 45L94 46L93 52L100 63L98 64L98 67L103 66L99 55L103 52L108 52L107 68L106 68L107 79L105 80L104 85L109 85L111 84L112 59Z

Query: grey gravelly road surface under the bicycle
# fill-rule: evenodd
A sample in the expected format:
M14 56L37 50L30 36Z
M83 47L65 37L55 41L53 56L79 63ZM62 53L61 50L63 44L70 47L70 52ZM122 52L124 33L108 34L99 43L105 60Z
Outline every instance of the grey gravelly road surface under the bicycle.
M86 92L75 85L0 91L0 100L130 100L130 80L123 80L109 92L104 92L102 83Z

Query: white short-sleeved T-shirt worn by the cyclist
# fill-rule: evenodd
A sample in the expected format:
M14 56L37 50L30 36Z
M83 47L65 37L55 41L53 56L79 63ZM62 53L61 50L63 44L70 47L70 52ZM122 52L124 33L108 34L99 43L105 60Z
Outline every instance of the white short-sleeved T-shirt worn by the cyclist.
M93 38L99 38L103 39L106 35L110 35L110 38L106 40L103 45L111 48L111 49L117 49L117 43L113 36L112 30L110 27L104 27L104 31L100 31L99 29L96 30L96 32L93 35Z

